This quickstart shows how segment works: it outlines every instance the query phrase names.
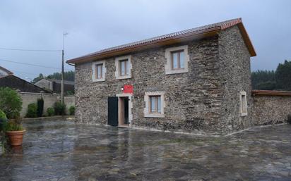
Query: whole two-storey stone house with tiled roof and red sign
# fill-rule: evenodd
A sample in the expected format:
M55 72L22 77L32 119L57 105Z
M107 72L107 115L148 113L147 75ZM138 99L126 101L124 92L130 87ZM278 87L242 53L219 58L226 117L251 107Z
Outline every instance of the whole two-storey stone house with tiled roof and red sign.
M73 58L76 121L207 135L254 125L242 20L174 32Z

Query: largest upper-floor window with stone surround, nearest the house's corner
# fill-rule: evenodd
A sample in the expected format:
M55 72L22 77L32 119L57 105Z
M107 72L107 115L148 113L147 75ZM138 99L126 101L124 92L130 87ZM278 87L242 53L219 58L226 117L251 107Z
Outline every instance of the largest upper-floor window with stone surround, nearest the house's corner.
M187 45L166 49L165 57L167 59L166 74L188 73L189 55Z

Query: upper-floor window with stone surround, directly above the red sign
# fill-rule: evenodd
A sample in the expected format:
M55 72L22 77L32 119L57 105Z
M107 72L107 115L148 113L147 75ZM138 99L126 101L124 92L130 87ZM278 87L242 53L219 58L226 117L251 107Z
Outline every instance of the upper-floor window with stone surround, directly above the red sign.
M115 58L115 67L115 77L117 80L131 78L131 56Z

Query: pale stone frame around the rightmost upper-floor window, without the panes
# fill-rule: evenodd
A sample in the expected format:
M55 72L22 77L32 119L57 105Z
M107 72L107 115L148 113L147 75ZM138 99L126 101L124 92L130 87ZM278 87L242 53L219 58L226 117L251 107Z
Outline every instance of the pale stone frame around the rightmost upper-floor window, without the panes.
M172 69L172 52L174 51L184 51L184 68ZM188 45L184 46L175 46L165 50L165 58L167 63L165 65L166 74L175 74L175 73L188 73L188 63L189 63L189 54L188 54Z

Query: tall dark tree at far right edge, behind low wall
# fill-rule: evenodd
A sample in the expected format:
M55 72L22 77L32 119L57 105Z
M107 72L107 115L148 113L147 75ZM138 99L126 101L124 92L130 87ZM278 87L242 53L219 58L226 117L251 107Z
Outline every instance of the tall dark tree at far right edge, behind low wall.
M291 90L291 61L285 60L284 63L279 63L275 80L277 89Z

